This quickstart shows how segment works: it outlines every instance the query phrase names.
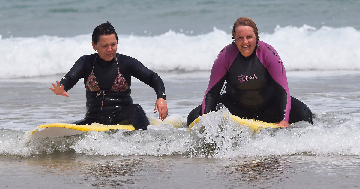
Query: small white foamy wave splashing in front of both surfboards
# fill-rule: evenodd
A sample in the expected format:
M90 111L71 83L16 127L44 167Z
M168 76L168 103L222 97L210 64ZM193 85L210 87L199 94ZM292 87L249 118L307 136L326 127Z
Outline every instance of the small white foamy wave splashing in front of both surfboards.
M225 116L224 116L225 115ZM66 152L87 155L171 156L184 157L264 157L310 155L360 156L360 114L342 116L342 122L320 122L315 125L298 122L285 129L266 129L255 134L251 129L229 119L223 109L210 112L195 124L174 128L169 123L149 126L148 130L116 133L89 131L80 135L31 139L23 131L0 130L0 156ZM179 121L179 120L177 120Z

